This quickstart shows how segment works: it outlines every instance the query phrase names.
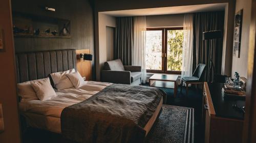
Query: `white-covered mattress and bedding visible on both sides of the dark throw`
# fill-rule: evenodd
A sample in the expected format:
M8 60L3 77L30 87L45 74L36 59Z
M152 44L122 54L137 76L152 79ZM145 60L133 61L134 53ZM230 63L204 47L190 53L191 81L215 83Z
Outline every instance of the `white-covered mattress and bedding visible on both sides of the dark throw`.
M57 96L46 101L31 100L20 102L19 109L30 127L61 133L60 115L62 110L67 106L90 98L110 84L106 82L88 81L87 84L79 89L71 88L56 91ZM161 109L162 102L163 99L161 99L152 118L145 125L144 130L146 134L154 124Z

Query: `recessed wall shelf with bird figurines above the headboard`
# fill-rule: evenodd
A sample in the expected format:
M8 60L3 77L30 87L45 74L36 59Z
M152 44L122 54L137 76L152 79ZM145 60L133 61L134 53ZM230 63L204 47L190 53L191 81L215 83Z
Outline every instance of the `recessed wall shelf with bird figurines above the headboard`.
M67 19L13 12L13 26L14 37L71 38L70 20ZM63 27L66 27L67 34L63 34ZM39 30L39 34L35 34L36 30ZM56 35L52 34L54 31Z

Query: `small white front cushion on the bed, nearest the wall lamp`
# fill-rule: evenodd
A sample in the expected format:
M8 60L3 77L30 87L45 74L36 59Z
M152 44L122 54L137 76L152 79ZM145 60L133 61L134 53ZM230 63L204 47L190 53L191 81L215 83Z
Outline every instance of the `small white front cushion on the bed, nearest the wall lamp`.
M69 78L69 80L72 82L72 84L76 89L81 87L83 84L87 83L86 81L83 80L82 76L78 71L75 73L66 74L66 76Z

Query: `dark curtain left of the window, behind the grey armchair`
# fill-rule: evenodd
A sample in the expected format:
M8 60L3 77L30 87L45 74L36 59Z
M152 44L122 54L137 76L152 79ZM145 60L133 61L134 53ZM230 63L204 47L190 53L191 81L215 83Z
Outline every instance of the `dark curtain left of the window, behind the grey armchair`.
M123 65L132 65L133 17L116 18L115 59L121 59Z

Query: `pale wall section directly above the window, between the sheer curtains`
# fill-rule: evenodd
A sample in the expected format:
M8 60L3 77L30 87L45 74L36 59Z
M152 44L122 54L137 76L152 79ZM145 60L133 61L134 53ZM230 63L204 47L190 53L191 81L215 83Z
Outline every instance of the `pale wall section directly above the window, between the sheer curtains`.
M184 14L149 15L146 16L147 27L183 26Z

